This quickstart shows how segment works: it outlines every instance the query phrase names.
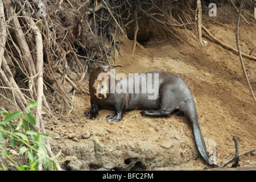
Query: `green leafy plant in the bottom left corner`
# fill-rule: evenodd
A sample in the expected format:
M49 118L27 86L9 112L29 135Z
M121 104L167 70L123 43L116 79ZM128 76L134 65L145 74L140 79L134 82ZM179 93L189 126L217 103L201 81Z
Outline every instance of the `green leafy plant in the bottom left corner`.
M57 162L56 160L61 151L53 158L48 156L45 139L51 137L47 134L39 134L38 131L30 130L30 125L35 125L36 122L30 113L26 113L26 110L36 106L38 106L37 102L31 102L24 111L15 111L11 114L5 110L0 110L0 114L5 115L0 123L1 156L3 159L8 159L18 170L36 171L39 164L44 164L44 169L52 170L56 168L56 163L63 162ZM22 118L22 114L26 119ZM18 122L12 122L16 119L18 119ZM13 154L11 154L6 149L6 146L18 149L18 152L12 152ZM14 158L24 154L27 154L28 165L19 165ZM0 169L6 169L6 166L0 163Z

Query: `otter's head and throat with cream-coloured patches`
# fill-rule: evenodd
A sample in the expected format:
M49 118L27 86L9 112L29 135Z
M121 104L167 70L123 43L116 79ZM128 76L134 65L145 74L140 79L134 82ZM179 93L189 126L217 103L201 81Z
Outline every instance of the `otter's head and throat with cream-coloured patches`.
M89 92L92 97L106 98L108 92L109 78L112 67L109 65L98 65L92 70L89 78Z

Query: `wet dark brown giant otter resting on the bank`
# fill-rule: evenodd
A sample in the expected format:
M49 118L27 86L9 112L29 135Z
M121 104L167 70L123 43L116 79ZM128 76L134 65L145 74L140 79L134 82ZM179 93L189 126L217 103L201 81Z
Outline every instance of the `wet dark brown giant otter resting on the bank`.
M143 110L141 111L142 116L166 117L174 113L183 114L192 123L193 134L201 156L211 166L218 167L209 159L199 127L196 105L188 86L182 78L162 71L142 74L144 74L143 78L146 78L146 80L143 80L142 77L137 79L141 75L115 80L115 78L112 78L112 68L109 65L100 65L93 69L89 78L92 109L89 112L85 111L85 117L95 119L100 109L115 111L114 116L108 115L106 117L107 121L110 122L121 121L126 111L134 109ZM152 75L154 75L154 79L150 80ZM148 90L143 90L148 80L154 85L151 92L149 92L150 88L148 87ZM136 89L139 89L140 92L138 90L136 92ZM152 93L156 96L155 98Z

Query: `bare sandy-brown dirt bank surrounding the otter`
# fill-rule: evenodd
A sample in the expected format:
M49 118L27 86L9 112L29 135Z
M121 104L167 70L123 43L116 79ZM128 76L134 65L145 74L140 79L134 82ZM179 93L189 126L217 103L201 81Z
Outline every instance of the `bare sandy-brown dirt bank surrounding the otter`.
M205 27L226 44L236 47L236 11L232 7L218 9L217 17L203 19ZM228 20L227 18L228 17ZM242 51L249 53L256 45L256 22L249 11L241 20ZM225 19L225 21L224 21ZM167 71L184 79L191 89L199 113L200 128L208 151L217 152L220 165L235 152L232 135L236 135L240 153L256 148L256 109L243 77L239 57L210 41L200 47L196 36L180 30L192 46L165 35L151 38L137 46L131 56L133 40L124 39L122 57L115 57L119 73ZM256 55L256 52L253 53ZM246 69L256 72L253 60L244 59ZM250 76L254 93L256 77ZM84 81L88 88L88 76ZM72 93L69 93L72 94ZM193 139L192 127L184 117L141 117L139 111L129 111L121 122L106 122L113 111L101 110L90 121L83 117L90 109L89 96L76 94L73 113L64 115L63 106L52 105L58 122L45 115L53 152L62 150L61 158L73 156L62 164L64 169L203 169L208 167L200 158ZM242 167L256 165L255 152L241 157ZM230 164L228 165L230 166Z

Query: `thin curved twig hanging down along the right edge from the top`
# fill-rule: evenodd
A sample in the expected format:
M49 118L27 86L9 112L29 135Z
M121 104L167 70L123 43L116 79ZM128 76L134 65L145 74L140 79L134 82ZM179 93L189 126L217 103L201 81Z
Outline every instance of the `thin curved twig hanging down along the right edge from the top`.
M254 96L253 89L251 88L251 84L250 84L248 75L247 75L247 73L246 73L245 64L243 64L243 57L242 57L241 48L240 48L240 43L239 43L239 38L238 38L238 27L239 27L239 23L240 23L240 18L241 18L243 3L244 3L244 0L241 1L240 10L239 10L239 13L238 13L238 18L237 18L237 28L236 28L237 48L238 48L238 54L239 54L239 58L240 58L240 61L241 61L242 69L243 69L243 75L245 75L245 80L246 80L246 82L247 82L247 84L248 84L248 86L249 86L249 90L250 90L250 93L251 93L251 97L253 97L254 104L256 105L256 98L255 98L255 96Z

